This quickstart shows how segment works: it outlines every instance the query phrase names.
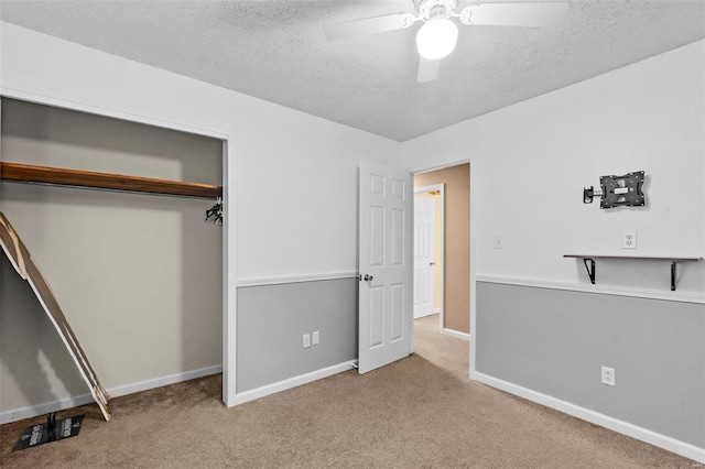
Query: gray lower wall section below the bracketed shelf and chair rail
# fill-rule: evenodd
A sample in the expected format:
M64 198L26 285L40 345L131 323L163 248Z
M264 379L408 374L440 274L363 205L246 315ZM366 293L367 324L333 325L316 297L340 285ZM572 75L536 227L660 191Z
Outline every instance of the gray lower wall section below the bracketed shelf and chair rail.
M478 372L705 448L705 305L477 282L476 314Z

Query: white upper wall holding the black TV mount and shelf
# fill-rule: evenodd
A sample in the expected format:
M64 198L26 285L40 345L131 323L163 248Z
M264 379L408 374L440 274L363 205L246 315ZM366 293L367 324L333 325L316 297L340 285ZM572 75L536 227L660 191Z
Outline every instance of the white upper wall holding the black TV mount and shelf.
M412 171L471 160L478 276L588 286L563 254L705 254L705 42L402 144ZM584 205L599 176L643 170L646 208ZM621 249L623 230L638 249ZM501 234L505 249L492 249ZM597 285L670 291L670 263L597 261ZM587 284L587 285L586 285ZM703 298L705 262L679 264L677 294ZM677 297L677 294L675 295Z

